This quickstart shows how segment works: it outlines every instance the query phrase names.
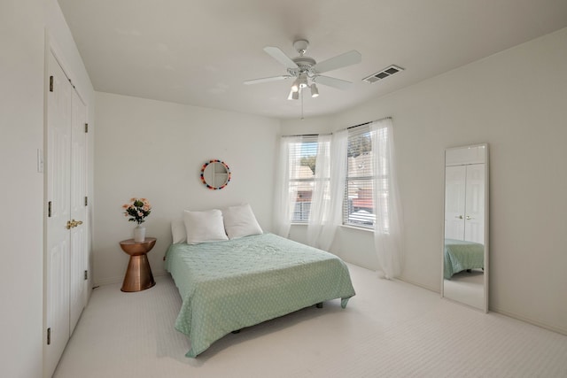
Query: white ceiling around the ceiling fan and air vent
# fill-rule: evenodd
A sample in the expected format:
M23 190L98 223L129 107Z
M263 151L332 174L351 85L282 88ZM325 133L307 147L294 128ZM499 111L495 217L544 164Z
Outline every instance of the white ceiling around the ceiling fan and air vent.
M305 117L376 96L567 27L565 0L58 0L97 91L276 118L299 118L291 81L244 85L284 74L262 49L291 58L310 42L321 62L358 50L362 62L328 76L305 96ZM386 66L406 70L375 84Z

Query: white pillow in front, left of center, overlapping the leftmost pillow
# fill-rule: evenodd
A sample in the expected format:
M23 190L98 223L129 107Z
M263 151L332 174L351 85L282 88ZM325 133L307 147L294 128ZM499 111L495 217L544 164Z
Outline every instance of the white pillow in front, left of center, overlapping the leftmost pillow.
M187 243L198 244L229 240L224 232L222 212L220 210L207 210L206 212L183 212L183 222L187 232Z

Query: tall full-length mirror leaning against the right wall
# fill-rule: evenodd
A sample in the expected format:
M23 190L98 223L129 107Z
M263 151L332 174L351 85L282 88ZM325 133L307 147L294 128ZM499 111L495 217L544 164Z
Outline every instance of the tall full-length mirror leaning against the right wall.
M442 290L488 311L488 144L445 151Z

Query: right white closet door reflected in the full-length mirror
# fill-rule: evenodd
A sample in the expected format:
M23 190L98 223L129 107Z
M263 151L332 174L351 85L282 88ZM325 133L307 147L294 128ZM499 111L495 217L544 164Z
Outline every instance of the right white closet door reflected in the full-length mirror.
M485 243L485 165L467 166L464 240Z

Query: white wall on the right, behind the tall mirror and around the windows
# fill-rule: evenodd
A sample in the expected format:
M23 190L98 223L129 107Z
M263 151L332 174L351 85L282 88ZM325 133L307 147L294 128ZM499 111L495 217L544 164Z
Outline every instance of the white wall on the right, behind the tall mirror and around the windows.
M402 278L436 291L444 150L489 143L490 309L567 334L565 41L567 29L332 118L286 120L283 134L320 131L325 122L328 131L393 117L405 218ZM341 229L333 251L375 267L371 238Z

